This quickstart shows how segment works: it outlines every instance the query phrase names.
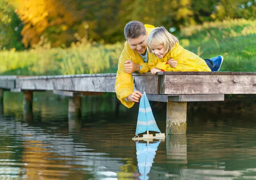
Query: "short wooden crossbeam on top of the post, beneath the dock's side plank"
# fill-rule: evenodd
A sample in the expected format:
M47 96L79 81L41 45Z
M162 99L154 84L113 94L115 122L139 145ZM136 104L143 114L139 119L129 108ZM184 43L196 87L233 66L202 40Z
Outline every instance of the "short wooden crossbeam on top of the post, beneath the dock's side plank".
M147 94L149 101L157 102L199 102L199 101L224 101L224 94L194 94L194 95L157 95Z

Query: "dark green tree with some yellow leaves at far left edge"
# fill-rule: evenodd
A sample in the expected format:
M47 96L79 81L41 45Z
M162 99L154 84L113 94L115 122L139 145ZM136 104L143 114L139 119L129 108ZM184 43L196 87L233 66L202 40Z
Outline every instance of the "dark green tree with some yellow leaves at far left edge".
M0 47L24 49L20 35L22 28L14 7L8 0L0 0Z

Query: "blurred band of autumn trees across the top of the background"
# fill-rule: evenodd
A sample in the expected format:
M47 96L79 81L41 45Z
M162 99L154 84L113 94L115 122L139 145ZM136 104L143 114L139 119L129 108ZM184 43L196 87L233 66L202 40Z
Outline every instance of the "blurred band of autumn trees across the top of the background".
M42 35L52 46L67 47L76 42L76 33L90 42L116 43L125 40L123 29L130 20L179 30L227 17L256 17L255 5L255 0L1 0L4 13L0 12L0 17L8 15L2 17L12 23L1 23L0 29L8 24L1 35L8 32L8 37L15 37L11 32L17 26L15 35L21 33L27 48L37 44ZM20 49L20 37L8 40L4 46Z

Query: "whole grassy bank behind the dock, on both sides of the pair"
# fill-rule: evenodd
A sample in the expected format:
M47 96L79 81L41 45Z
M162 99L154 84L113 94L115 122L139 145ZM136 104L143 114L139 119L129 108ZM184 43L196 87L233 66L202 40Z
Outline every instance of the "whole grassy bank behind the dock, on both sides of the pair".
M182 28L180 44L201 58L224 57L221 71L256 71L256 20L226 19ZM0 50L0 75L116 73L123 43L51 48L44 39L26 51Z

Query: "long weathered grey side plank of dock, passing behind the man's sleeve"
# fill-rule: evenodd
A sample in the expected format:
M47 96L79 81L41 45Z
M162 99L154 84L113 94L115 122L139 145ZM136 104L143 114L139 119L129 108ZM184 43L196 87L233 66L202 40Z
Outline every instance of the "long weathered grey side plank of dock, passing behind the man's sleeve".
M155 75L133 76L135 90L157 94ZM116 76L81 76L65 78L18 78L16 88L21 90L64 90L115 93Z

